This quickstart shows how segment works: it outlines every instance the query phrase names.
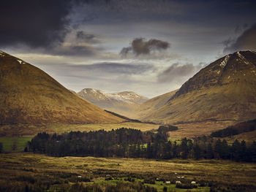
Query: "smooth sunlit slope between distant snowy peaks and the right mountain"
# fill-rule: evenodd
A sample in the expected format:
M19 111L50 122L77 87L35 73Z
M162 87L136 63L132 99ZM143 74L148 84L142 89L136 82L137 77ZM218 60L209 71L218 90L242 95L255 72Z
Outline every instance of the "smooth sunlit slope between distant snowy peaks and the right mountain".
M143 104L140 104L140 106L132 112L131 118L146 118L147 115L163 107L177 91L178 90L170 91L169 93L156 96Z

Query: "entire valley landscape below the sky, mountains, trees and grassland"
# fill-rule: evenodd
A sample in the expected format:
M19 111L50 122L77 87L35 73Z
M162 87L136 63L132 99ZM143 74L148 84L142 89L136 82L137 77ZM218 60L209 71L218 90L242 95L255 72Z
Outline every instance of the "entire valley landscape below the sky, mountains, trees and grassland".
M255 79L244 77L254 52L220 58L153 99L75 93L1 54L1 191L255 191L255 124L241 123L255 117ZM242 76L226 80L227 66ZM229 126L241 132L210 137Z

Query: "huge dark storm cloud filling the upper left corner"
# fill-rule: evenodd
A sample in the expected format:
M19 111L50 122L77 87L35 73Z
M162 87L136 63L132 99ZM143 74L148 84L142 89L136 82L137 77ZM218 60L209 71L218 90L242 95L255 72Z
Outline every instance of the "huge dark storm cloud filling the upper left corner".
M48 47L63 42L73 0L1 1L1 47L24 44Z

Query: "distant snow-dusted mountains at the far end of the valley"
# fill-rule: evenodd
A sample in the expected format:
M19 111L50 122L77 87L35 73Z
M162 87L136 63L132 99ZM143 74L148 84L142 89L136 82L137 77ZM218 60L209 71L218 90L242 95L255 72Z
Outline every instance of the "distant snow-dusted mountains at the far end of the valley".
M126 115L127 117L131 116L131 112L135 110L139 104L148 100L145 96L140 96L132 91L105 93L92 88L84 88L82 91L78 92L78 95L98 107Z

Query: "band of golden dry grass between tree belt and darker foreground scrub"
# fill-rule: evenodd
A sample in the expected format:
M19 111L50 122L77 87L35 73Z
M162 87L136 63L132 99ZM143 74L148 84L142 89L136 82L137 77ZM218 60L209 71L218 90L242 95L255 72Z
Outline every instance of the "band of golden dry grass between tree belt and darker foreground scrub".
M176 178L184 176L188 180L206 180L236 185L255 185L255 164L232 161L194 161L169 160L155 161L134 158L93 158L63 157L55 158L32 153L10 153L0 155L1 180L8 180L15 174L28 172L70 172L78 175L97 174L151 174ZM175 174L177 173L177 174Z

